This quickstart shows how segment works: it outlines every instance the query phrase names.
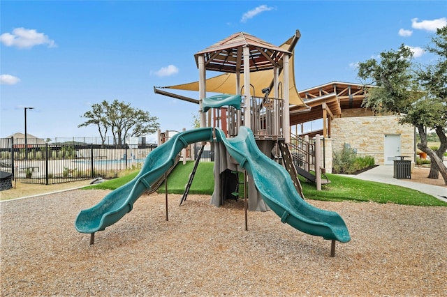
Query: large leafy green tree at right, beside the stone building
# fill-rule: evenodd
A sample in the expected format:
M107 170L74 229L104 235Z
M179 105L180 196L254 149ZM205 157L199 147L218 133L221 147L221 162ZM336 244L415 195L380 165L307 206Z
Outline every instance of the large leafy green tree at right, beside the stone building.
M438 57L432 65L414 64L411 50L402 44L398 50L381 52L380 61L359 63L358 77L376 86L365 88L363 106L377 114L397 114L400 123L414 125L420 136L418 148L432 160L428 177L438 178L440 172L447 185L447 168L442 162L447 150L447 26L437 30L432 42L427 51ZM439 137L437 151L427 146L427 130Z

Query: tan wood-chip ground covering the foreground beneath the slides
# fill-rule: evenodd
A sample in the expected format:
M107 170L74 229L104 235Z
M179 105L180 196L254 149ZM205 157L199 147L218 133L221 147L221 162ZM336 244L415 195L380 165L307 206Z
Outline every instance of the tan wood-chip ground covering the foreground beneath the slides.
M107 190L1 202L1 296L447 296L447 208L323 202L349 243L303 234L243 200L144 195L117 224L75 231Z

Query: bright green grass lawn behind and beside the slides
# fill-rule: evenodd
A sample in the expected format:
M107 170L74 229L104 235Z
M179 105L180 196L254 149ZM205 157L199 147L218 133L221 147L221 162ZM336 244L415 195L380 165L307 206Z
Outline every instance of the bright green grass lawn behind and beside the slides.
M168 176L168 193L183 194L188 183L189 174L193 170L194 163L179 163ZM86 188L115 190L134 178L138 172L133 172L122 178L115 178ZM402 188L397 185L362 181L357 178L326 174L331 181L328 185L322 185L321 191L316 190L313 183L301 180L302 190L306 199L323 201L374 201L377 203L395 203L418 206L447 206L447 203L416 190ZM200 162L196 176L193 179L189 194L212 195L214 189L213 162ZM164 183L157 192L164 192Z

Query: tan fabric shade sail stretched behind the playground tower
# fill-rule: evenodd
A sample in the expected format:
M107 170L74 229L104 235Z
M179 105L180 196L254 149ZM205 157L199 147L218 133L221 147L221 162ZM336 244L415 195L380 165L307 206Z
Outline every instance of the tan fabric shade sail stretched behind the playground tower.
M298 40L300 38L301 34L300 31L296 31L296 33L289 38L285 43L283 43L280 48L286 50L286 52L294 52L294 48L296 43L298 43ZM295 67L294 67L294 59L293 54L291 55L291 58L289 59L289 100L291 105L297 105L297 107L306 107L303 100L300 98L300 95L298 94L298 90L295 86ZM262 90L270 87L272 89L273 87L273 70L267 69L267 70L261 70L256 71L254 73L250 73L250 93L251 96L263 96ZM240 74L240 81L244 81L244 75ZM284 81L283 72L279 74L279 82ZM161 89L177 89L177 90L183 90L183 91L198 91L199 89L198 82L189 82L186 84L177 84L175 86L163 86L160 87ZM282 91L281 91L282 84L279 84L279 98L282 97ZM155 89L156 93L157 90ZM235 73L223 73L222 75L217 75L216 77L212 77L206 80L206 91L210 93L225 93L225 94L235 94L238 93L236 90L236 75ZM240 90L239 90L240 91ZM162 92L160 92L162 93ZM240 91L240 93L243 93ZM167 95L166 92L163 92L163 95Z

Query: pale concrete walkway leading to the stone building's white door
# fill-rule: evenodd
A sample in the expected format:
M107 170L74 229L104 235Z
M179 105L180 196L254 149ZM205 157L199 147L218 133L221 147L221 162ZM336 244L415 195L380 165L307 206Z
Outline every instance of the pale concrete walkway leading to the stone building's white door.
M393 165L379 165L373 169L369 169L367 172L362 172L353 178L362 179L364 181L377 181L379 183L389 183L391 185L400 185L404 188L410 188L418 190L419 192L432 195L437 199L447 202L447 188L439 185L427 185L425 183L414 183L407 179L393 178L394 167Z

